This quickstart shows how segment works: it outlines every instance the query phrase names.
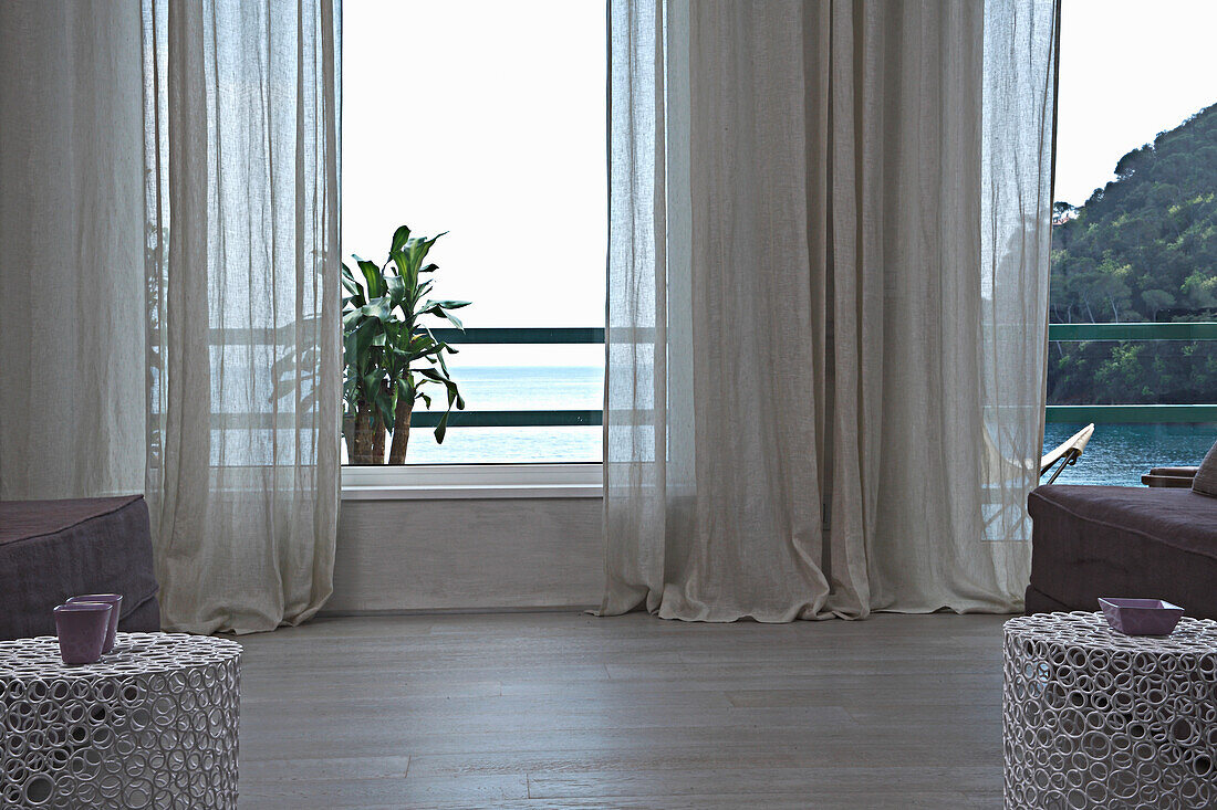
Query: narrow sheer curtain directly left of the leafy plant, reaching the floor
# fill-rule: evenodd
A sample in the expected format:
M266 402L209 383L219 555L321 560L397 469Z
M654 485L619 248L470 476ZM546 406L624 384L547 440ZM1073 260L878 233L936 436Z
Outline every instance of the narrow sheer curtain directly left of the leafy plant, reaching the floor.
M144 0L147 496L161 611L271 630L331 592L337 0Z

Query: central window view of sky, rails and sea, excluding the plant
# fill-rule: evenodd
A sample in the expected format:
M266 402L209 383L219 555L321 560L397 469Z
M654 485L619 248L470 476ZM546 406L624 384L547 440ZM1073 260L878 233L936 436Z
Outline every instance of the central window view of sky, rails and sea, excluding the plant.
M475 426L437 445L416 415L409 463L601 457L605 47L598 0L343 4L344 258L447 231L436 293L472 302L449 365Z

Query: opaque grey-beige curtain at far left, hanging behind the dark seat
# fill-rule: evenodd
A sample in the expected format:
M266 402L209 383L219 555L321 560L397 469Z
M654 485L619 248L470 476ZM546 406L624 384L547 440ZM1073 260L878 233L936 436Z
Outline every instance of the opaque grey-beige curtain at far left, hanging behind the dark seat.
M144 488L139 0L0 2L0 499Z

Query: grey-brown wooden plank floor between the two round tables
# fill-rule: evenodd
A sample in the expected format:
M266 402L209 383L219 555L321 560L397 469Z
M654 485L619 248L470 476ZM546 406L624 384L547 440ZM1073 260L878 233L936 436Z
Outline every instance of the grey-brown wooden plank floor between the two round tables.
M241 808L999 808L1005 618L247 636Z

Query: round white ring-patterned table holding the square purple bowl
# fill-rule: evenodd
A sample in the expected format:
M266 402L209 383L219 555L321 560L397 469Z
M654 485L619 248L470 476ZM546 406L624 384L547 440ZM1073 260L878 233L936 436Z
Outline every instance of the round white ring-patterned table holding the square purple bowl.
M1004 636L1008 810L1217 808L1217 621L1126 636L1038 613Z

